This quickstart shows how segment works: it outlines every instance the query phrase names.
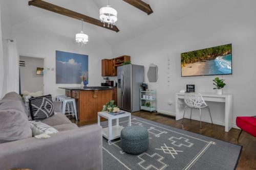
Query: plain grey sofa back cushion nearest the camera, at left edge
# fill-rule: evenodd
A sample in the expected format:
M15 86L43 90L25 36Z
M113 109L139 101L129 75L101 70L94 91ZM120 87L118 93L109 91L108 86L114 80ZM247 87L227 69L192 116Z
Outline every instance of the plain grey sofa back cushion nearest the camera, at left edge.
M0 143L29 137L32 137L32 131L29 120L23 112L0 109Z

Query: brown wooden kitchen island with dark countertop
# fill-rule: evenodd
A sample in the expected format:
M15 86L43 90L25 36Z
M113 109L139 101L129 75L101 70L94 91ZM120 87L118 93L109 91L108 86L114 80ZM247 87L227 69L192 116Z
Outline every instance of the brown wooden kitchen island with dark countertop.
M102 106L113 100L112 87L59 87L66 95L76 100L77 116L80 122L94 124Z

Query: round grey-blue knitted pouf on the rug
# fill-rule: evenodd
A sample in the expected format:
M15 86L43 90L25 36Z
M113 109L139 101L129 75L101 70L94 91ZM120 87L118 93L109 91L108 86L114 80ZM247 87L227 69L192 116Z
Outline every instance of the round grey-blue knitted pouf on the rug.
M129 154L141 154L148 148L148 132L141 126L125 127L121 131L121 148Z

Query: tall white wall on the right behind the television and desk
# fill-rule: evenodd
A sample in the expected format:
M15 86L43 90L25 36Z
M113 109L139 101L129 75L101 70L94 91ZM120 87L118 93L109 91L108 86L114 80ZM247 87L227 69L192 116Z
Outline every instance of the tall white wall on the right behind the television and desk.
M176 92L185 89L186 84L195 84L198 92L214 92L212 79L217 77L181 77L180 54L232 43L233 74L223 78L227 84L224 92L233 94L233 122L237 116L255 115L255 5L254 1L222 1L216 6L199 9L194 15L167 23L163 27L114 46L113 56L130 55L132 63L144 65L146 71L151 63L158 65L158 82L148 83L149 88L157 89L157 110L175 115ZM173 104L168 105L168 101L173 101ZM214 122L223 125L224 104L209 105ZM198 115L199 113L193 114L195 118L198 118ZM203 114L203 119L209 121L207 112Z

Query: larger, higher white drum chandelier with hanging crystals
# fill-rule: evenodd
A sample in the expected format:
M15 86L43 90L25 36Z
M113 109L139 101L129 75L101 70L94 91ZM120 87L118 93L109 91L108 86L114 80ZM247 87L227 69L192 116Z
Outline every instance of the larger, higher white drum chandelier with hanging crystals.
M113 28L115 26L115 22L117 21L117 11L109 5L106 7L102 7L99 10L99 18L101 22L103 22L103 27L105 27L105 23L108 23L108 27Z

